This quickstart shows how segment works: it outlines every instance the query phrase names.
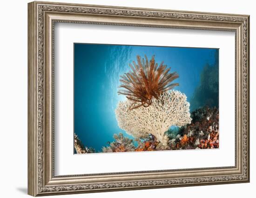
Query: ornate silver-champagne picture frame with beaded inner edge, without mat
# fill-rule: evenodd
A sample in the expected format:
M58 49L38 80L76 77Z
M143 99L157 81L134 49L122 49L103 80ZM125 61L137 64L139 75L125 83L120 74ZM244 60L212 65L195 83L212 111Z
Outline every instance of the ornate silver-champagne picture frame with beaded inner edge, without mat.
M54 24L235 32L235 166L54 174ZM223 58L223 57L222 57ZM225 124L225 123L223 123ZM249 182L249 16L146 8L28 4L28 194L106 192Z

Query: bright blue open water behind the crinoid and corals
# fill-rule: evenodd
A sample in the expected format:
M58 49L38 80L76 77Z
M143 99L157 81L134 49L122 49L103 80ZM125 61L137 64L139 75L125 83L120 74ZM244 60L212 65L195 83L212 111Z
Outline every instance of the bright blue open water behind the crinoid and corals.
M148 59L155 55L156 63L164 61L171 72L176 71L179 78L174 82L180 85L175 89L190 101L206 65L218 70L217 52L218 49L209 48L74 44L74 132L96 152L108 141L114 141L113 134L121 132L133 138L118 127L115 108L125 100L125 96L117 94L119 77L128 72L128 64L136 61L137 55L147 55Z

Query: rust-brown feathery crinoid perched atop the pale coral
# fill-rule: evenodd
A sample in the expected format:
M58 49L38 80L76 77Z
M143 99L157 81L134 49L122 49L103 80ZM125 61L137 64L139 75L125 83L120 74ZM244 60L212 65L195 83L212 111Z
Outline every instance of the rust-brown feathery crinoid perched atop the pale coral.
M163 62L158 66L155 63L155 56L148 63L148 57L145 55L141 61L141 57L137 56L138 64L133 61L133 65L129 64L131 71L121 76L120 82L122 88L118 94L125 95L129 100L134 101L129 109L138 107L148 107L152 104L152 98L156 99L169 89L179 85L171 83L179 75L169 73L170 68L163 65Z

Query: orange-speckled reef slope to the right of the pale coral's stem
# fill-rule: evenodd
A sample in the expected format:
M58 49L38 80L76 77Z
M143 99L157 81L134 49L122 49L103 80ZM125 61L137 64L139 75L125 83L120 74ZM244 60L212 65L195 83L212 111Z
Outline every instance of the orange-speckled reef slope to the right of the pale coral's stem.
M177 133L167 132L170 150L219 147L219 111L204 107L191 113L192 122Z

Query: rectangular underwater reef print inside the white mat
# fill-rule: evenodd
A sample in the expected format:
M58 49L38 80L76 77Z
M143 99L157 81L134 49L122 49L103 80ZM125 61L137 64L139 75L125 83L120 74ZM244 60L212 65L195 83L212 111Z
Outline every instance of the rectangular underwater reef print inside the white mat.
M74 154L213 148L219 49L74 43Z

